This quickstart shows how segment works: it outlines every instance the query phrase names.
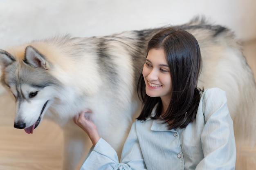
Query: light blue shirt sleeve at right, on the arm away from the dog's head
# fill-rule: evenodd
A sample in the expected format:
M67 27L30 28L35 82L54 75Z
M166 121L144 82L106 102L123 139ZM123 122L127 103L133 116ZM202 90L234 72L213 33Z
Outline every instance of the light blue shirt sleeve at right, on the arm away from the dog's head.
M234 170L236 144L226 94L219 88L213 88L202 97L205 126L201 140L204 159L196 170Z

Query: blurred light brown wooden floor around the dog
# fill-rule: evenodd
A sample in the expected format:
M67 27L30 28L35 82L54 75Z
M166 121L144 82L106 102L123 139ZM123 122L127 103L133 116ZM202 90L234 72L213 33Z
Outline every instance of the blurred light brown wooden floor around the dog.
M256 41L244 48L256 78ZM13 128L14 102L7 93L0 94L0 170L60 170L63 158L63 133L54 123L43 120L34 133ZM256 169L256 149L238 153L247 164L239 170ZM248 157L249 156L249 157ZM243 168L244 167L244 168ZM254 168L253 168L254 167Z

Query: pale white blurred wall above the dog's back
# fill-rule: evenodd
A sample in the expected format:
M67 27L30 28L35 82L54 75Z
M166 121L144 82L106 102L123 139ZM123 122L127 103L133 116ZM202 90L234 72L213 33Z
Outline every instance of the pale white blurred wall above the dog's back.
M108 35L205 15L256 39L256 0L0 0L0 49L56 34Z

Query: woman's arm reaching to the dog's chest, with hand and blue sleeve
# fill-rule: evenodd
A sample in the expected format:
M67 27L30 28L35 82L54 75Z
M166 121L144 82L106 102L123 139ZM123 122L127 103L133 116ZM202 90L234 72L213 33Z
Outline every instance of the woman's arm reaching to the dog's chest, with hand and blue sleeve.
M74 123L89 135L94 145L80 170L146 170L137 139L135 124L132 125L124 144L121 160L125 161L119 163L116 151L108 142L99 137L97 127L85 117L85 112L74 117Z

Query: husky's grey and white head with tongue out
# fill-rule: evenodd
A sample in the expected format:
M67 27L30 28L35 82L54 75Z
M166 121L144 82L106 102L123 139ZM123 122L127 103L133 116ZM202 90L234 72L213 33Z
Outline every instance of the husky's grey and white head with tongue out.
M2 85L16 101L14 127L33 133L54 99L60 82L49 70L51 63L32 46L8 53L0 50Z

